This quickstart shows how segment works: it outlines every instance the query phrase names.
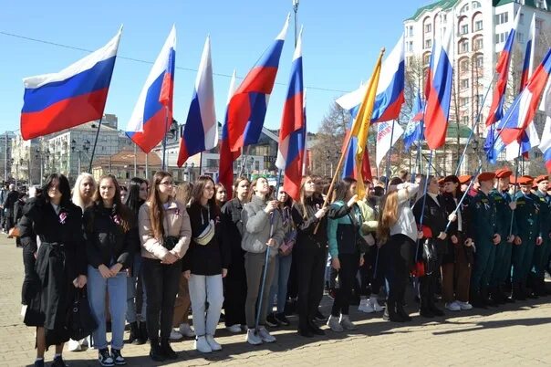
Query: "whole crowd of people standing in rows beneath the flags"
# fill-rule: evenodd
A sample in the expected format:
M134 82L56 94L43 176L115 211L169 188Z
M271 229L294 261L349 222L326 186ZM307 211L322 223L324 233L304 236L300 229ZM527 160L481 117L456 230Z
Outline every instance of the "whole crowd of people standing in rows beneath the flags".
M209 176L176 184L166 172L128 187L89 173L72 190L57 173L25 194L6 186L4 230L23 247L35 365L52 345L52 366L66 365L67 313L82 292L102 366L126 363L125 328L126 342L149 341L161 362L178 358L171 341L182 337L195 338L197 351L220 351L221 320L258 345L275 342L270 330L289 325L291 313L298 334L312 338L355 330L351 305L408 322L406 304L415 301L421 318L432 319L550 294L548 176L400 171L366 184L364 197L351 177L328 193L325 179L306 176L296 201L264 177L238 177L233 198ZM406 299L410 285L415 300ZM327 318L324 291L333 299ZM69 349L85 342L69 341Z

